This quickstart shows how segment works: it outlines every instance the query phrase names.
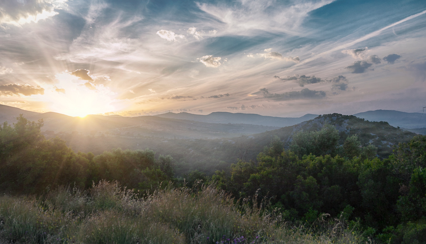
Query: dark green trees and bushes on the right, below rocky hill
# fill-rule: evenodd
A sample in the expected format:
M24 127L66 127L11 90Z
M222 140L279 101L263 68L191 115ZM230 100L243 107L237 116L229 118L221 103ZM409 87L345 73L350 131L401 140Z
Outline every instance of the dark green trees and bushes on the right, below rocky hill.
M213 180L234 196L271 198L290 221L312 222L328 213L360 220L377 241L424 243L426 136L400 143L381 160L374 156L377 148L361 147L356 136L337 146L333 130L299 133L294 151L278 152L280 141L273 139L256 162L239 161Z

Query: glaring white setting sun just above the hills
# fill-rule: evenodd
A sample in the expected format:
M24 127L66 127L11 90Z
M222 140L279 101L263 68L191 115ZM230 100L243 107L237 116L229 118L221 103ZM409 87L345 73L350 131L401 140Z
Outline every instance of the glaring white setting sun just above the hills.
M109 88L78 79L68 72L57 74L56 79L58 83L46 94L52 111L81 118L116 111L113 105L116 94Z

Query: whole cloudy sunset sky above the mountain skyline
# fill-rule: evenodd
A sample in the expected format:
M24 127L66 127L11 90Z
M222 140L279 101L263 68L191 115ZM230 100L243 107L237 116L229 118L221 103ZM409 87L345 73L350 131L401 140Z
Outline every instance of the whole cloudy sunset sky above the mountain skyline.
M424 0L0 0L0 104L69 116L426 106Z

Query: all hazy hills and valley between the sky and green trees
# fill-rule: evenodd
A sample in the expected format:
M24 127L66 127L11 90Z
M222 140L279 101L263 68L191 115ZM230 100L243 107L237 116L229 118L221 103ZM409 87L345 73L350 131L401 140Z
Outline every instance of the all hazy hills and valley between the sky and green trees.
M201 161L202 165L218 165L221 161L230 164L237 158L254 160L265 145L269 145L273 136L279 136L288 147L292 136L298 131L320 130L325 123L335 125L339 130L340 145L346 136L358 135L363 145L375 145L378 155L386 157L392 152L394 145L407 142L415 135L392 127L391 122L402 121L393 125L407 128L415 127L416 120L420 119L418 113L413 116L413 113L383 110L356 114L368 121L377 122L337 113L322 116L307 114L300 118L226 112L209 115L165 113L139 117L88 115L80 118L54 112L35 113L0 105L0 122L16 122L19 114L30 121L43 119L42 133L46 138L59 136L76 151L99 154L119 147L132 150L150 148L160 154L170 154L178 162L189 165ZM380 122L386 120L391 121L391 125ZM220 169L219 166L214 166L212 172ZM183 166L181 171L185 171Z

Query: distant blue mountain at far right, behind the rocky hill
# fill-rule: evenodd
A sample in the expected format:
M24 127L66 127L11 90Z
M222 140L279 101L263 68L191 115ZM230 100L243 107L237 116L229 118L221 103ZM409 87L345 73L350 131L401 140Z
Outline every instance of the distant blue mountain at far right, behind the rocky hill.
M369 121L386 121L389 125L400 128L426 128L426 114L406 113L395 110L374 110L356 113L354 116Z

